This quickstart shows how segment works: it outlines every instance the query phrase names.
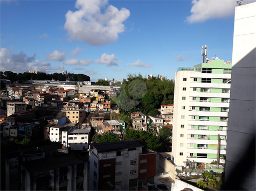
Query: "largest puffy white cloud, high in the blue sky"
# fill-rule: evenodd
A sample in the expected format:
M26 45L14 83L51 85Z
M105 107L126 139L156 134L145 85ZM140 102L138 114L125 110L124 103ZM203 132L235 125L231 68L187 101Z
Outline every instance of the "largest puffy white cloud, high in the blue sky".
M92 46L115 42L118 34L124 31L122 23L130 16L129 10L118 10L106 0L77 0L75 8L78 11L68 11L65 15L64 28L70 35L69 40Z

